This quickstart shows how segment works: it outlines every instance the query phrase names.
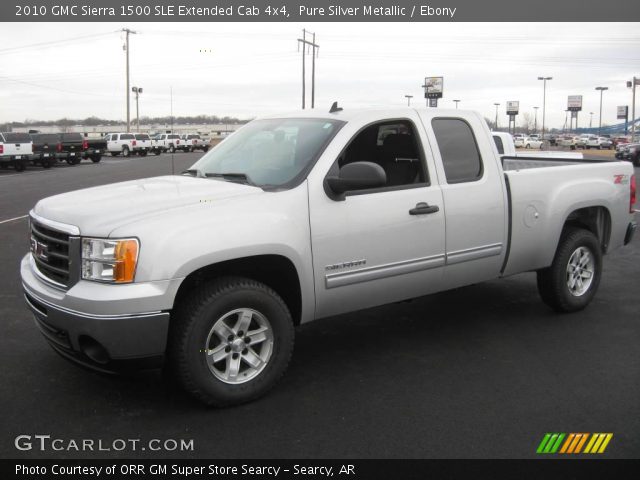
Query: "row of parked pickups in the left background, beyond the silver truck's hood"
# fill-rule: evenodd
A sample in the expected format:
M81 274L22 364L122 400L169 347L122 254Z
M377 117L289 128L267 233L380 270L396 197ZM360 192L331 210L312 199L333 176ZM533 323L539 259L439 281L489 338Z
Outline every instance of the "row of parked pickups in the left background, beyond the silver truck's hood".
M209 143L198 134L109 133L104 137L85 137L82 133L0 133L0 168L23 171L28 165L51 168L58 162L77 165L82 159L97 163L102 155L160 155L175 151L209 150Z

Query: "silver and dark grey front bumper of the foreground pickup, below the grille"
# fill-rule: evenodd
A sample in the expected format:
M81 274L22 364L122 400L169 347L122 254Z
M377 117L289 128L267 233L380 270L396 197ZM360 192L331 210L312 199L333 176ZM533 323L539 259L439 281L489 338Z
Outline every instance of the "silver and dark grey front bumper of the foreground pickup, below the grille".
M43 281L29 257L21 264L25 302L56 351L103 371L157 366L166 350L169 310L179 281L79 281L64 291Z

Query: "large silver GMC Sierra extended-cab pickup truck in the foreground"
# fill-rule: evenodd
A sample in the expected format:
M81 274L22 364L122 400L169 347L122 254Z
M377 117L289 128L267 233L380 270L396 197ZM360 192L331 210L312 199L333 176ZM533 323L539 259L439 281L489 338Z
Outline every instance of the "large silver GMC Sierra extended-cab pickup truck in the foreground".
M296 112L182 175L41 200L22 283L68 359L163 362L229 405L274 385L314 319L527 271L556 311L586 307L634 202L628 162L501 157L475 112Z

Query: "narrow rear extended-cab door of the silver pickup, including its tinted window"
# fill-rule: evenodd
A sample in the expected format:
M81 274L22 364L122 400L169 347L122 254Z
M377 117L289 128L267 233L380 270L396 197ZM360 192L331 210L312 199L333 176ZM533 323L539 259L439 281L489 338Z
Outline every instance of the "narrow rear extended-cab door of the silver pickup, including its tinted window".
M503 173L486 122L473 112L420 115L447 212L443 286L496 278L508 245L508 212Z

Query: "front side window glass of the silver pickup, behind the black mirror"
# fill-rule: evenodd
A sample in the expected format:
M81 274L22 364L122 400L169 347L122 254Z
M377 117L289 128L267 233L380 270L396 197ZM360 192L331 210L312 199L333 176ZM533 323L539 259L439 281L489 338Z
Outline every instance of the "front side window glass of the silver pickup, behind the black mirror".
M342 168L354 162L372 162L382 167L387 177L382 190L428 183L420 141L413 123L408 120L378 122L361 130L337 163Z

